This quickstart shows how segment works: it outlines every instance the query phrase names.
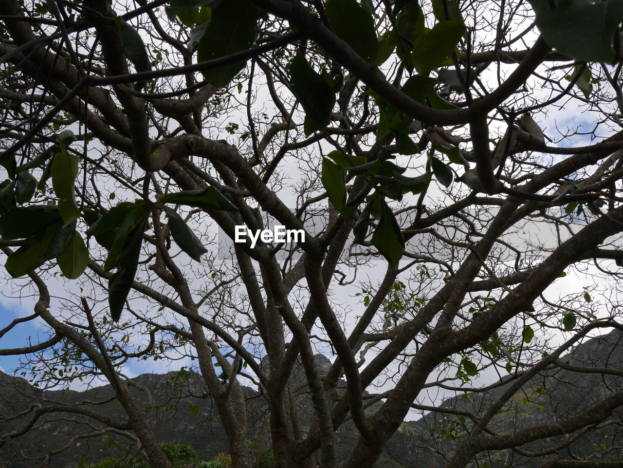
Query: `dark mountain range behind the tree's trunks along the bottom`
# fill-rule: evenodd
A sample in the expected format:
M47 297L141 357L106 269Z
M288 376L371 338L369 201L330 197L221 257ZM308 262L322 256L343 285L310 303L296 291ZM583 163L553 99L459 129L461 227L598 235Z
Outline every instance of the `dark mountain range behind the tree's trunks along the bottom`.
M615 330L608 335L592 338L576 346L561 360L570 366L623 370L623 337ZM322 355L316 356L316 364L321 373L326 373L331 366L330 361ZM449 398L441 406L482 414L508 388L509 383L506 381L509 378L510 376L506 376L488 391L466 392ZM601 373L545 371L523 386L503 406L490 426L496 432L509 432L568 418L605 398L612 391L621 389L621 380L618 376L605 376ZM294 371L291 381L293 388L303 383L302 369ZM159 441L189 444L196 450L199 460L209 460L220 452L227 452L227 439L219 424L218 412L212 406L211 398L198 375L182 369L163 375L143 374L133 378L133 382L135 385L131 391L137 401L147 402L151 399L153 402L155 409L148 413L148 418ZM247 396L258 396L250 388L244 388L243 391ZM87 407L97 409L117 421L123 421L123 410L113 396L110 385L85 392L42 390L31 386L22 378L0 372L0 434L21 427L36 408L46 408L54 404L89 401L91 403L85 403ZM300 409L301 429L307 432L313 415L307 394L295 396L295 404ZM376 403L377 406L379 404ZM259 427L265 407L263 398L249 399L249 438L254 436L255 428ZM374 411L374 406L370 411ZM11 419L12 415L25 412L28 413L22 418ZM615 417L618 421L623 421L621 415L612 416ZM611 421L614 421L612 418ZM86 416L73 413L44 414L35 423L33 430L0 448L0 463L2 466L20 468L39 466L40 457L67 445L72 437L78 439L69 449L55 454L51 466L76 468L81 461L96 462L107 456L123 457L127 451L133 450L125 437L117 436L113 431L104 430L96 437L82 437L83 432L99 431L100 426L102 424L90 421ZM419 421L405 422L386 445L376 468L440 467L444 464L444 457L452 456L470 426L468 418L440 412L429 413ZM622 445L619 443L617 427L619 426L614 423L606 424L600 429L601 432L580 437L572 444L571 451L577 456L592 454L594 458L601 456L602 459L621 459L621 454L612 449ZM346 459L357 440L358 434L353 423L347 422L338 429L336 451L339 461ZM555 446L561 441L560 437L553 438L523 448L538 451ZM496 460L508 461L505 457L508 457L506 452L491 454L491 465ZM84 463L82 466L85 466ZM532 467L535 462L526 460L520 466Z

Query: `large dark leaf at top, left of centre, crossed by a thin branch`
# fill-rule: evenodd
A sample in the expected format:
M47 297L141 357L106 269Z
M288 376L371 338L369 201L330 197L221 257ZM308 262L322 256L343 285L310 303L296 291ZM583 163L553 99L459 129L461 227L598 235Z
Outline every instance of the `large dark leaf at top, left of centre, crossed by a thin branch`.
M227 0L212 9L212 19L197 44L197 60L218 59L234 52L250 49L257 36L259 9L247 0ZM217 88L229 85L246 62L234 62L203 70L204 79Z

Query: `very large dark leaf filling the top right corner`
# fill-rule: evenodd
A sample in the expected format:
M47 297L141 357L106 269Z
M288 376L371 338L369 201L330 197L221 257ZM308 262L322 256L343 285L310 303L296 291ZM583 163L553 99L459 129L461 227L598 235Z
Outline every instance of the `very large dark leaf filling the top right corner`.
M579 62L612 62L623 2L566 0L554 10L543 0L530 3L536 12L536 26L551 47Z

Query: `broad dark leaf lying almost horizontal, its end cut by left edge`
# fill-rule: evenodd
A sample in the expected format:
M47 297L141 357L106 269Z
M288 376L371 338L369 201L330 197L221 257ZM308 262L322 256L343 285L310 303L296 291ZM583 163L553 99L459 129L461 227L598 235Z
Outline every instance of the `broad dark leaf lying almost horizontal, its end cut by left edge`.
M60 221L59 207L33 205L12 208L0 217L2 239L24 239Z

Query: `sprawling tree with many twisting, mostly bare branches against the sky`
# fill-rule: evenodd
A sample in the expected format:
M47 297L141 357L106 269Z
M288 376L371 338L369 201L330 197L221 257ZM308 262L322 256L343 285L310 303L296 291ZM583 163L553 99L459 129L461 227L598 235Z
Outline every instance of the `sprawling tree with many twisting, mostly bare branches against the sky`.
M27 356L25 375L47 386L107 380L125 419L102 401L50 402L11 415L1 440L69 414L89 421L74 442L114 431L170 467L124 365L191 357L235 468L268 446L275 467L338 466L346 421L358 442L343 466L370 467L410 411L431 408L460 418L446 419L449 447L427 446L448 467L500 454L619 466L615 446L601 461L564 448L611 424L621 371L559 358L623 330L622 9L2 1L0 242L6 294L36 300L0 337L25 321L49 337L0 355ZM215 238L277 224L304 239ZM588 289L566 290L565 274ZM482 391L487 370L506 390L482 411L426 403L430 389ZM498 433L505 405L546 393L536 384L556 370L609 384ZM251 397L267 408L257 426ZM541 440L556 451L526 448Z

